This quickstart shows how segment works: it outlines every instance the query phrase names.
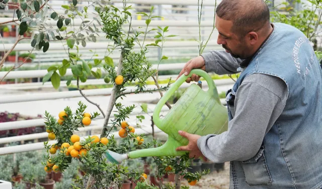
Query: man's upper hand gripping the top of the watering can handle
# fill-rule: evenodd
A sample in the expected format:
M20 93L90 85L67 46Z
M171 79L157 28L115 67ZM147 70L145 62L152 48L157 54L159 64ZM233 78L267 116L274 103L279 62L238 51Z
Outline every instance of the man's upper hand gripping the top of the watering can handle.
M180 78L182 74L185 74L185 76L188 76L192 69L202 69L206 70L205 60L202 56L197 56L195 58L192 58L187 62L187 64L183 67L182 71L179 73L179 76L177 77L177 80ZM199 76L193 74L191 78L188 78L186 80L187 83L190 83L191 81L198 82Z

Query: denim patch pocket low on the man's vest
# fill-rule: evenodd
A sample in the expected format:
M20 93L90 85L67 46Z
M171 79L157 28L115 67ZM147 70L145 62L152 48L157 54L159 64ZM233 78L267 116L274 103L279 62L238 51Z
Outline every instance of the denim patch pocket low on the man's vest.
M249 160L241 163L245 173L246 182L249 185L271 185L273 180L267 168L264 155L264 146Z

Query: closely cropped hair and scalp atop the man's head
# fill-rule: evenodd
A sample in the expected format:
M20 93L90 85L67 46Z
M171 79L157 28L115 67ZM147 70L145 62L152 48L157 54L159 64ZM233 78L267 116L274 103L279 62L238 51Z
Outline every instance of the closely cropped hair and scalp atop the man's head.
M216 15L231 21L231 32L240 37L251 31L266 32L270 27L270 11L263 0L222 0Z

